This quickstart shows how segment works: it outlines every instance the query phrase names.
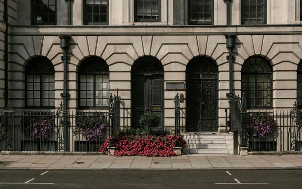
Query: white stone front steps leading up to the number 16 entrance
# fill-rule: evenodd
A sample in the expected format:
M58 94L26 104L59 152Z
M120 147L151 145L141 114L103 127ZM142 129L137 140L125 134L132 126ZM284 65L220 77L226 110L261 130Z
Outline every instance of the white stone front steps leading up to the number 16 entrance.
M233 155L233 134L196 132L182 135L187 141L183 154Z

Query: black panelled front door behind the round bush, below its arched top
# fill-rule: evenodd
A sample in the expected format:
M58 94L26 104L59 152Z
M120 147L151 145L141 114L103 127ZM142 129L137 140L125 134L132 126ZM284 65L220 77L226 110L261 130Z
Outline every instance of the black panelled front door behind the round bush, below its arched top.
M164 77L162 74L132 76L132 127L139 126L138 120L145 112L155 112L161 118L162 129L164 118L163 92Z

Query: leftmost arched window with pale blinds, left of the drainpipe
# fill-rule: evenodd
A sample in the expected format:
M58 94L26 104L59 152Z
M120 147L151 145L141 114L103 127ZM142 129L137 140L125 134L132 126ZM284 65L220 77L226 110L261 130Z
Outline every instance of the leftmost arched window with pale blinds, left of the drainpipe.
M26 67L27 108L54 108L54 67L51 61L38 56Z

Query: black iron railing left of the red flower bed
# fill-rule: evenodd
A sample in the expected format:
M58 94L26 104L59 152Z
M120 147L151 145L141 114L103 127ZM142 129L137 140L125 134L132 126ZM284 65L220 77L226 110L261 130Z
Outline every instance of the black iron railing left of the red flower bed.
M16 112L9 105L0 113L0 151L97 151L119 129L120 97L110 95L104 112Z

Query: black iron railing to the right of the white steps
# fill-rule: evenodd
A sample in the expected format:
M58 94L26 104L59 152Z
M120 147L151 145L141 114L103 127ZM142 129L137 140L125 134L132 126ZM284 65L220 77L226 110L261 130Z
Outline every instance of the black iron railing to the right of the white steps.
M296 103L290 111L250 111L243 94L241 101L235 96L230 106L231 130L234 135L238 130L240 147L258 152L302 151L302 117Z

